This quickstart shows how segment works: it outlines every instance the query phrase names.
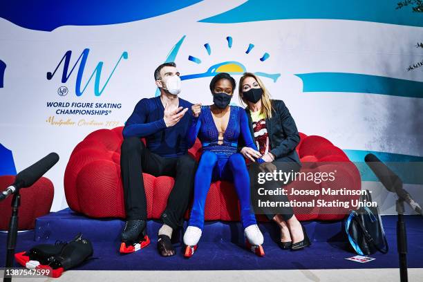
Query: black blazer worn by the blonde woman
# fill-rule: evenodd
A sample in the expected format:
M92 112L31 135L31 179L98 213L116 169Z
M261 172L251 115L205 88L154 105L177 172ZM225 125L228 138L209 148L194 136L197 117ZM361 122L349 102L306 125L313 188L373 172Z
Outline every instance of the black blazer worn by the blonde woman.
M272 118L266 118L266 128L271 148L270 153L276 156L275 161L294 161L301 165L297 151L295 151L295 147L300 142L297 125L295 125L290 111L288 111L282 100L271 100L271 102L273 108ZM247 112L250 132L254 140L250 110L245 109L245 111ZM241 151L244 146L243 138L239 138L238 151Z

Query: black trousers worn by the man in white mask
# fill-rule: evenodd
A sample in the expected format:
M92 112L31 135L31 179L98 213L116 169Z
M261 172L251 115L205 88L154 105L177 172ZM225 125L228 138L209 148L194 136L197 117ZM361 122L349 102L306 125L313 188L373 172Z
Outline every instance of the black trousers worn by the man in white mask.
M196 161L189 155L163 158L147 149L140 138L124 139L120 169L124 187L126 220L147 219L147 199L142 172L153 176L171 176L175 184L161 219L173 229L182 226L184 214L194 190Z

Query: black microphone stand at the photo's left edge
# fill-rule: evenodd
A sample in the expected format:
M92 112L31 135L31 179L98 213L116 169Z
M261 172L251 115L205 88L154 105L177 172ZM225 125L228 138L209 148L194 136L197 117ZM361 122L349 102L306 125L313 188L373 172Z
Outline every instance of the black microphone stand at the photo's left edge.
M15 191L12 198L12 216L10 216L9 231L8 231L8 246L6 254L6 270L4 273L3 282L12 281L11 277L6 277L6 271L8 268L13 267L13 258L15 255L16 238L17 238L17 227L18 227L18 211L21 205L21 194L19 189Z

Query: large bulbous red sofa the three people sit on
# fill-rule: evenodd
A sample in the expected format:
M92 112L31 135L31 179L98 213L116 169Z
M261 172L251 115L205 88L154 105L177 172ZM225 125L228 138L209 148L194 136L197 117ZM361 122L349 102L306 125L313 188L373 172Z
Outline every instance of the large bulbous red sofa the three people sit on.
M301 162L314 162L302 171L330 171L337 169L337 181L330 187L361 189L361 179L355 165L346 154L323 137L300 133L301 142L297 153ZM71 154L64 175L64 189L69 207L93 218L125 217L122 181L120 177L120 146L122 127L100 129L90 133L77 144ZM197 160L201 154L201 144L196 141L189 154ZM319 165L319 162L321 165ZM347 165L346 164L350 164ZM173 187L173 178L154 177L144 173L147 194L148 218L160 218ZM288 185L301 186L301 189L319 189L328 183L306 182L298 185L294 181ZM326 196L330 198L331 196ZM333 197L333 196L332 196ZM295 197L294 197L295 198ZM335 198L339 198L336 196ZM334 198L334 199L335 199ZM292 200L292 198L290 198ZM326 208L325 208L326 209ZM339 220L344 214L339 209L294 209L299 220ZM189 211L186 217L188 218ZM212 183L205 205L205 220L239 220L239 207L232 184L225 181ZM259 216L259 220L265 220Z

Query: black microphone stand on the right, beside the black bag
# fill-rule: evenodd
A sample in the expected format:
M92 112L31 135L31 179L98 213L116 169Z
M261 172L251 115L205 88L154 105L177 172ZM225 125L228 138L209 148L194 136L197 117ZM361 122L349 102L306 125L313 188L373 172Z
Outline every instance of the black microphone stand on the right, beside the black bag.
M400 281L407 282L407 235L404 222L404 200L398 198L396 202L397 220L397 250L400 258Z

